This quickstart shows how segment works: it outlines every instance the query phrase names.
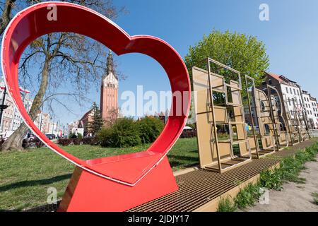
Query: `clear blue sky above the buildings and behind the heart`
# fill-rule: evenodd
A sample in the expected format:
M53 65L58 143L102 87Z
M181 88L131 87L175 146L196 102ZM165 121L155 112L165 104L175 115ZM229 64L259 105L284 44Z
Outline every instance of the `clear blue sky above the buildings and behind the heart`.
M266 44L273 73L297 81L304 90L318 97L318 1L317 0L116 0L126 6L128 15L116 23L130 35L154 35L169 42L184 57L189 45L204 34L230 30L255 35ZM259 5L269 5L269 21L259 20ZM127 79L119 83L119 98L124 90L170 90L165 72L153 59L139 54L116 57L119 70ZM99 102L92 89L90 97ZM119 105L122 101L119 101ZM89 109L78 109L78 115ZM76 116L58 115L64 124Z

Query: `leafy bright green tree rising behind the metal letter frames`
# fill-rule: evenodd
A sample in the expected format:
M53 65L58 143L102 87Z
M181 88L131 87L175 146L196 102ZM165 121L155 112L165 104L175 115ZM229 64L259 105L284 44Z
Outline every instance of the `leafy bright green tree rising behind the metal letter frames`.
M210 35L204 35L194 47L189 47L185 64L191 79L192 66L207 69L208 57L240 71L242 82L245 75L253 77L256 85L262 82L264 71L269 67L269 56L266 54L265 44L257 40L257 37L237 32L213 30ZM211 65L211 70L225 76L225 79L232 79L235 76L228 70L220 70L219 66L214 64Z

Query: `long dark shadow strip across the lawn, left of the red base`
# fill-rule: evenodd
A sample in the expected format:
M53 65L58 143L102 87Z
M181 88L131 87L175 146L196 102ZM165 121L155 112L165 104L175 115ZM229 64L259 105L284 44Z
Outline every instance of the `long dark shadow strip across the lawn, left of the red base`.
M38 180L32 180L32 181L23 181L23 182L16 182L13 184L7 184L5 186L0 186L0 192L1 191L8 191L10 189L18 189L25 186L35 186L35 185L45 185L45 184L52 184L54 182L59 182L64 179L70 179L72 174L63 174L59 175L57 177L51 177L47 179L38 179Z

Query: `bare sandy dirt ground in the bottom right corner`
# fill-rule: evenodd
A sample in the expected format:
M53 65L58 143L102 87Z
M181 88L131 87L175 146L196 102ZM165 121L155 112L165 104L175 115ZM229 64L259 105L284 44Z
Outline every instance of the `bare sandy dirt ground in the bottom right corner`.
M317 157L318 161L318 157ZM283 191L269 191L269 204L257 203L248 212L318 212L313 203L313 193L318 193L318 162L307 162L306 169L300 177L306 179L305 184L287 183Z

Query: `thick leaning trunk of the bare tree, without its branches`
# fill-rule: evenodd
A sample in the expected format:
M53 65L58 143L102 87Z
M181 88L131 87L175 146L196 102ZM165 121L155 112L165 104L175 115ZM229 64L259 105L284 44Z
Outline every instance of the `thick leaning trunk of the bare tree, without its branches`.
M37 95L35 95L29 112L30 118L33 121L37 118L37 114L39 113L40 107L42 106L42 100L45 95L45 91L47 90L47 85L49 82L49 65L51 63L51 60L51 57L45 57L45 64L42 69L42 80L40 88L37 91ZM20 124L18 129L16 129L16 131L14 131L11 136L1 145L1 150L23 150L22 141L27 132L28 126L26 126L24 123Z

